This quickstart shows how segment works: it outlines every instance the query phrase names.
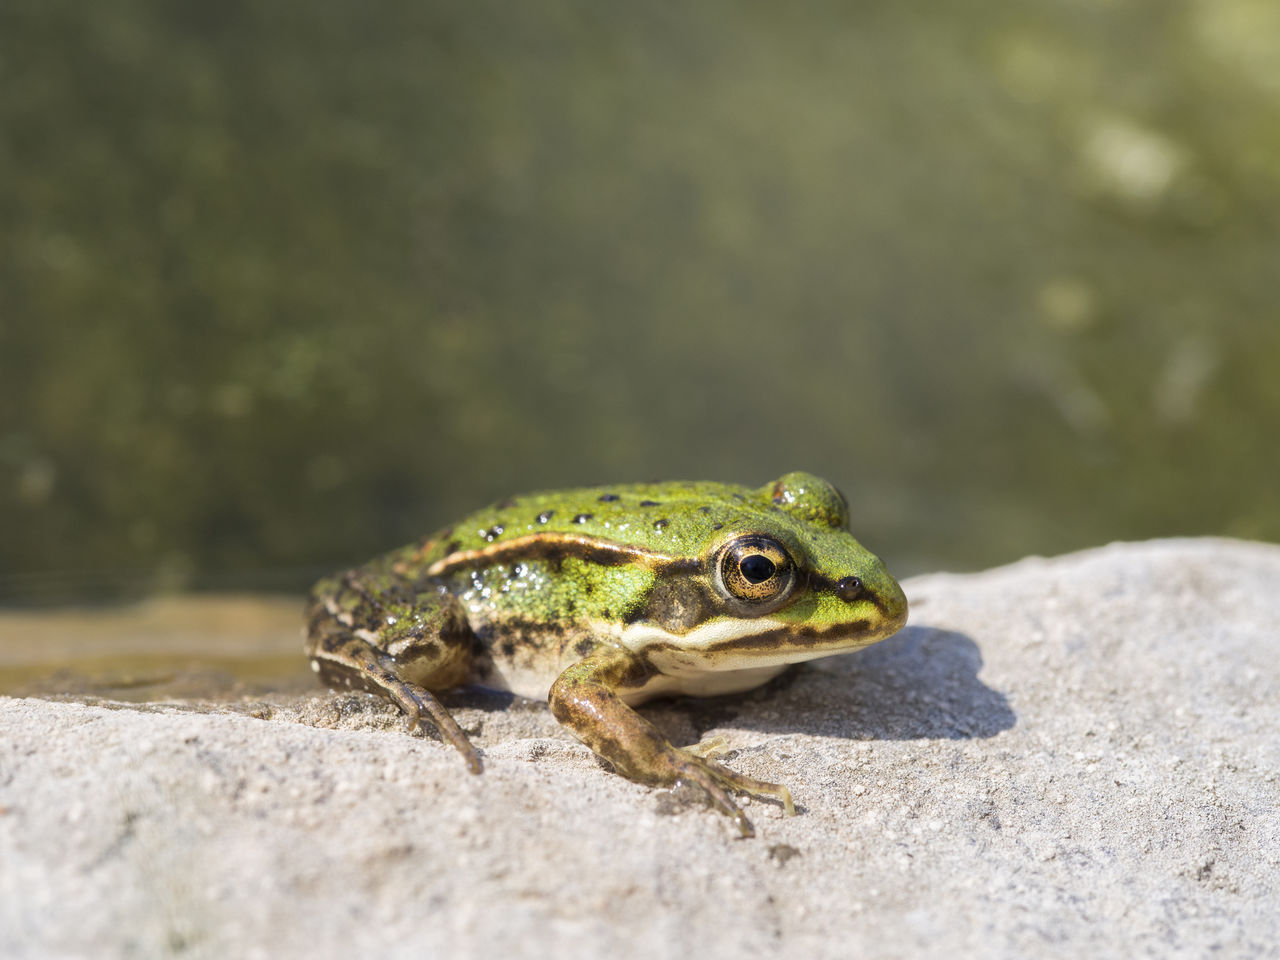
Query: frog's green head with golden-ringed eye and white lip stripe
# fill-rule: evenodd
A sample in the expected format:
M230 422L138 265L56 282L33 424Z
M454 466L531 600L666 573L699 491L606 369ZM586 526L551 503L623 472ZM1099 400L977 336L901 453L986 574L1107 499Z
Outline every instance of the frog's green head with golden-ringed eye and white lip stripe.
M824 657L906 623L902 589L849 532L849 506L826 480L787 474L721 513L696 568L659 579L644 616L703 669Z

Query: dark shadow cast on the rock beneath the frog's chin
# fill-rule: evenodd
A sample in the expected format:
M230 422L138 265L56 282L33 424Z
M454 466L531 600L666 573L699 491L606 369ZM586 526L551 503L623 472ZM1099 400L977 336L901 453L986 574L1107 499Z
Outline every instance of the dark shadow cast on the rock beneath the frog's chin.
M700 731L737 726L850 740L969 740L1009 730L1009 699L978 678L978 645L908 627L865 650L814 660L742 696L686 701Z

